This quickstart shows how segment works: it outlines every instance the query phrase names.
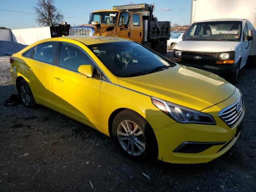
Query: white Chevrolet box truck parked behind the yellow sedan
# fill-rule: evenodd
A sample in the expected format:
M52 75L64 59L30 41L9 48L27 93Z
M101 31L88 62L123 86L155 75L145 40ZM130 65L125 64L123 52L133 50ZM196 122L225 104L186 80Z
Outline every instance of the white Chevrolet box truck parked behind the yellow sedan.
M236 83L246 64L256 67L256 0L192 0L191 26L173 59Z

